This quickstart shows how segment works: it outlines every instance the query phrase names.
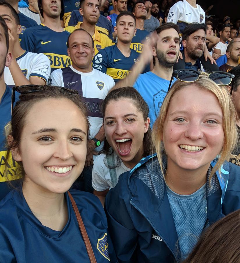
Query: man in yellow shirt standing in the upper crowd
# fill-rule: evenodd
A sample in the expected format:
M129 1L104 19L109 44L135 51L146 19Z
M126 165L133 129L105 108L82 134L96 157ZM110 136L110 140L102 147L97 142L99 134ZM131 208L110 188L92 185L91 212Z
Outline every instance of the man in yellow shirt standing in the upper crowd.
M83 22L79 22L75 27L67 26L65 30L70 33L79 28L86 30L93 37L95 54L105 47L112 46L113 42L108 35L95 26L100 15L99 0L82 0L79 11Z

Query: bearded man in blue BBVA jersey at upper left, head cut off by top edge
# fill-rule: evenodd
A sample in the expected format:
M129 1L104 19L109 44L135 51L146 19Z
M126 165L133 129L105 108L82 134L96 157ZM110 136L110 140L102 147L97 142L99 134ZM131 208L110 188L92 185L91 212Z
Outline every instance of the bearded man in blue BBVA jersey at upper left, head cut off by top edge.
M38 6L44 19L43 24L26 29L21 47L24 50L45 54L51 64L51 72L71 65L67 55L69 32L61 26L64 14L63 0L38 0Z

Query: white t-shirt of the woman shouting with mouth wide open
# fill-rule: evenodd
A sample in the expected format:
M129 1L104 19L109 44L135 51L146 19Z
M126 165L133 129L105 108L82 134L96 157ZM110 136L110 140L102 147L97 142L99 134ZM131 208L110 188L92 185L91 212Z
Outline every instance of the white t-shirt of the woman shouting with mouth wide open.
M117 154L115 152L113 152L113 154L114 154L115 164L117 164L118 162ZM93 163L92 186L93 189L99 192L115 187L115 185L113 185L113 182L111 180L110 169L104 164L104 162L108 164L105 157L106 154L102 153L95 159ZM125 166L125 164L123 164L122 160L120 159L120 166L114 168L114 170L117 176L116 182L118 182L118 177L122 173L125 173L131 169Z

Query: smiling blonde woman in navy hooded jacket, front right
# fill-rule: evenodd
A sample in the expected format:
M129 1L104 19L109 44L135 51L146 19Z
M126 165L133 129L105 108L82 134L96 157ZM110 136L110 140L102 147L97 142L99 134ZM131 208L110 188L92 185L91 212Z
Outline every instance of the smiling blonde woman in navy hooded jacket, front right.
M187 79L194 72L183 71L153 125L157 154L121 175L106 196L119 262L181 262L202 231L240 208L240 167L226 161L237 142L231 97L212 76Z

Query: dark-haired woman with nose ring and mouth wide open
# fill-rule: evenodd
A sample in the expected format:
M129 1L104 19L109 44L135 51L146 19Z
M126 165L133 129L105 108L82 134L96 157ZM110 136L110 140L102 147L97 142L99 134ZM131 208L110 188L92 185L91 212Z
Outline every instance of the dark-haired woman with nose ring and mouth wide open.
M106 139L102 153L94 161L92 185L103 205L119 175L151 154L148 112L147 103L131 87L112 90L102 103Z

